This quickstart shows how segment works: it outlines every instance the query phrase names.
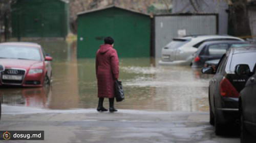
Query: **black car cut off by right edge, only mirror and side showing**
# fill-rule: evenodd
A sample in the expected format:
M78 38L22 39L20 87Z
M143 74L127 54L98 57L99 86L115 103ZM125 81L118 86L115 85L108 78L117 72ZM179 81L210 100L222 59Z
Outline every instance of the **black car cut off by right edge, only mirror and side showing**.
M239 112L241 116L241 143L256 142L256 64L253 73L249 72L247 64L238 65L236 74L240 76L252 75L240 92Z

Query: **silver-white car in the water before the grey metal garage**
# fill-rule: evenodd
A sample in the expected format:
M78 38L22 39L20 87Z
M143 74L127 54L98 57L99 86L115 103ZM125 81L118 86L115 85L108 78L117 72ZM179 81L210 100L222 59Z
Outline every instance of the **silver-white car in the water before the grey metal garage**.
M197 52L198 47L206 41L219 40L240 40L238 37L221 35L201 35L185 36L174 38L170 43L162 48L162 57L159 64L182 64L191 65L193 54Z

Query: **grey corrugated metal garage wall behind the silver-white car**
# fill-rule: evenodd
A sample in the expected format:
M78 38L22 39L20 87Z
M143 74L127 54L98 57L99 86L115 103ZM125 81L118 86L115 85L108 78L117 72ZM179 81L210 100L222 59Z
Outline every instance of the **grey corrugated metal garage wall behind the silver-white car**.
M178 37L179 30L186 35L215 35L218 29L218 16L212 15L163 15L155 17L155 57L161 57L161 49L173 38Z

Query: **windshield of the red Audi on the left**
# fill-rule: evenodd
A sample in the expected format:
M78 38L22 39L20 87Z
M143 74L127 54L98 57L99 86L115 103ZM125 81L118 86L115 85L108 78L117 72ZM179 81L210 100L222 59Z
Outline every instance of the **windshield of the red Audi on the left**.
M41 54L37 48L14 45L0 45L0 58L41 60Z

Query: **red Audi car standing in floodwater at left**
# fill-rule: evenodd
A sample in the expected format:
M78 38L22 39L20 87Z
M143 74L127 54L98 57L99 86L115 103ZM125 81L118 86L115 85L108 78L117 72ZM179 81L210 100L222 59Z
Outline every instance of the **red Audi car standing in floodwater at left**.
M0 64L5 70L0 85L43 86L50 84L52 57L42 47L31 42L0 43Z

